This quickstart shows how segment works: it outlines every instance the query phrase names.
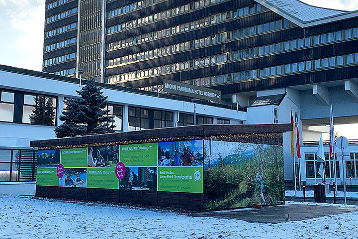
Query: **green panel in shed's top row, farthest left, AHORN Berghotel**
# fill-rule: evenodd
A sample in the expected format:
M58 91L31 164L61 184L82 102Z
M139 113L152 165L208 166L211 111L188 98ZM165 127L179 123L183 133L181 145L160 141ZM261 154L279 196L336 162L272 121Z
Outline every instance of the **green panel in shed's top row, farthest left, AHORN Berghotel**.
M65 168L87 167L87 148L61 149L61 163Z

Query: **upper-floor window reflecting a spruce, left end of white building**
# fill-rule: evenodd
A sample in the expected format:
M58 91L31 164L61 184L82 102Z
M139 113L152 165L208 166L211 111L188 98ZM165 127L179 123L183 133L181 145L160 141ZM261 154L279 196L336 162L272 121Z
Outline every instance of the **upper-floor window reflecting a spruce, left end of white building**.
M22 122L56 125L57 99L53 96L25 94L22 107Z

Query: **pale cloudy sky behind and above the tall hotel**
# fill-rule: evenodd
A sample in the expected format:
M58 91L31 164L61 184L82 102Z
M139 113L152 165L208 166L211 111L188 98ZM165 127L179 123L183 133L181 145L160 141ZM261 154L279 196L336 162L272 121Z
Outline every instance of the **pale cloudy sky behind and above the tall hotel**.
M303 0L357 10L358 0ZM0 64L41 71L45 0L0 0Z

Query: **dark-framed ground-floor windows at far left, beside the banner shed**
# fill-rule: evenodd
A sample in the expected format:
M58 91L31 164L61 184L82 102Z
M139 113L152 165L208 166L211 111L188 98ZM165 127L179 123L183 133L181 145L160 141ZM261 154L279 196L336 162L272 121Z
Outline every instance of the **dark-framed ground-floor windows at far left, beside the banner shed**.
M0 182L35 181L37 150L0 149Z

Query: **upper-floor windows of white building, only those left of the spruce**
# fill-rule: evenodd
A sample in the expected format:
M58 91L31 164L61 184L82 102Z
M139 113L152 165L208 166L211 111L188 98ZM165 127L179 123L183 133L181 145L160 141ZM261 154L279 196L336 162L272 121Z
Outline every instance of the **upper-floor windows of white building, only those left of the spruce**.
M16 92L16 94L20 93ZM20 94L19 96L15 98L15 92L0 90L0 121L40 125L56 124L56 97L41 94ZM22 111L15 111L15 106L22 108Z

